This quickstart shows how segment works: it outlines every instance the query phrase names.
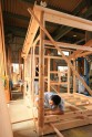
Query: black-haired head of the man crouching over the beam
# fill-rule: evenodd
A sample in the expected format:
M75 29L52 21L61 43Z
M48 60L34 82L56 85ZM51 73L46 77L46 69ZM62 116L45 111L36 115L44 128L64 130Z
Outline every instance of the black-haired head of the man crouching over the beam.
M61 97L59 95L52 95L49 99L49 104L58 106L61 102Z

